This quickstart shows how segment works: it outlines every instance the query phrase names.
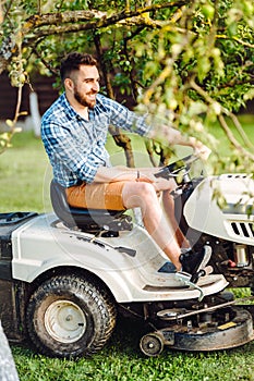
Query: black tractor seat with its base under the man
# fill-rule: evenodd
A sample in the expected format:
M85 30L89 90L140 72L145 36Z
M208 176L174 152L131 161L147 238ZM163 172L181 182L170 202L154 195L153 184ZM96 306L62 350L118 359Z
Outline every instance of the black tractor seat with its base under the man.
M50 184L52 208L58 218L69 228L77 226L86 232L119 232L132 230L132 218L125 210L73 208L68 204L65 189L55 180Z

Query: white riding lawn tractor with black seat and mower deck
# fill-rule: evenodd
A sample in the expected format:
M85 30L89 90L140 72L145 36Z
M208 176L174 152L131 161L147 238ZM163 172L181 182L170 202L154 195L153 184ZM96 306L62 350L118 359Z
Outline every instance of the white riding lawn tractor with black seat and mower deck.
M196 174L196 163L189 156L156 174L176 177L176 218L193 249L211 247L209 271L196 283L173 271L133 216L71 208L55 181L53 212L0 214L0 311L9 341L47 356L89 356L123 316L141 322L147 356L165 346L215 351L251 342L253 306L239 305L228 288L254 290L254 182L241 173Z

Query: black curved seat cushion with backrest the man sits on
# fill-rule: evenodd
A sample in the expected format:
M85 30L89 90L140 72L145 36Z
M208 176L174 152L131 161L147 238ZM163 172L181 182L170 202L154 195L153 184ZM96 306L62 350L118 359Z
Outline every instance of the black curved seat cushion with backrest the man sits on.
M94 230L101 229L120 218L125 210L73 208L68 204L65 188L55 180L50 184L50 198L58 218L69 226Z

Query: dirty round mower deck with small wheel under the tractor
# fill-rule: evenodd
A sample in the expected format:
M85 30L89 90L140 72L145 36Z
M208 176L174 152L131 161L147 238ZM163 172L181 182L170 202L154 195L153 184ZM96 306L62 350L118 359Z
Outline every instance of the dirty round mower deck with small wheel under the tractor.
M184 311L182 311L184 312ZM190 315L169 325L148 333L141 339L140 346L147 356L159 355L165 345L181 351L218 351L241 346L254 340L252 315L241 307L225 307L205 314ZM166 310L165 317L170 311ZM182 314L184 316L184 314ZM161 318L162 314L161 314ZM173 318L172 318L173 319Z

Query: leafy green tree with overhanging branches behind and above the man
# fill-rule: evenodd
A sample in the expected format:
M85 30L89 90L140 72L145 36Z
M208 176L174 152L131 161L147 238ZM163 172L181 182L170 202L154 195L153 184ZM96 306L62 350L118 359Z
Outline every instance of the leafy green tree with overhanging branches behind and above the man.
M232 156L217 163L253 169L253 145L234 114L254 97L252 0L2 0L1 7L0 73L8 70L20 93L34 67L53 74L66 52L86 50L100 62L104 91L148 111L158 136L161 123L170 123L217 152L207 126L218 121ZM130 142L118 133L133 165ZM164 162L168 152L156 148Z

